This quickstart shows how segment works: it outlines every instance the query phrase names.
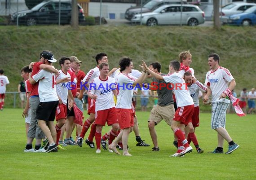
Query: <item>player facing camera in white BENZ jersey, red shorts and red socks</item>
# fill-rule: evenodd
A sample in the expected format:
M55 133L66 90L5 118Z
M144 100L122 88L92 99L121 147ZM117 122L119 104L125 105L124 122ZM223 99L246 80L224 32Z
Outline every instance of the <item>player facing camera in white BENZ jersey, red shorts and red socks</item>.
M115 111L114 97L117 97L117 88L115 79L108 77L109 65L103 62L99 66L100 75L94 78L93 87L88 91L88 97L95 99L95 123L96 132L95 140L97 150L96 153L101 152L102 127L106 122L108 126L112 126L112 133L110 133L111 141L115 139L119 130L119 123ZM115 134L115 136L113 136Z

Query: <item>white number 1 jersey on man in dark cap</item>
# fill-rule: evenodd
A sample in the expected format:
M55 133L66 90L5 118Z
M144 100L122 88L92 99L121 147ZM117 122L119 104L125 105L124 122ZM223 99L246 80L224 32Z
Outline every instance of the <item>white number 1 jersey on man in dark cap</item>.
M56 92L56 75L46 70L39 70L32 78L38 82L38 94L40 102L58 101Z

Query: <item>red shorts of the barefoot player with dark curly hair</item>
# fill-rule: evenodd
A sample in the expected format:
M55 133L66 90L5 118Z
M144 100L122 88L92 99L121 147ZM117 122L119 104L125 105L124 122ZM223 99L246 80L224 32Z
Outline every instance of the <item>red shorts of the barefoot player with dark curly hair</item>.
M133 112L132 109L116 108L117 119L120 129L133 127Z

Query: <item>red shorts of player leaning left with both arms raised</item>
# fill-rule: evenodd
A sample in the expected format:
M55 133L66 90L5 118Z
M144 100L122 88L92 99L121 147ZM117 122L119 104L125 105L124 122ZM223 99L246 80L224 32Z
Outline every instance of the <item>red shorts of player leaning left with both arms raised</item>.
M187 125L189 122L192 122L191 118L194 112L194 105L186 105L178 107L174 114L174 121L180 121L182 124Z

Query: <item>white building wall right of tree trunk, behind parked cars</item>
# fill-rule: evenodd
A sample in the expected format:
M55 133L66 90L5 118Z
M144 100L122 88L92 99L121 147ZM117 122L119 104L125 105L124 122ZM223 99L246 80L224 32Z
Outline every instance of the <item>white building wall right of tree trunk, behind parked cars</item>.
M102 3L102 17L109 19L113 18L113 14L115 14L115 19L124 19L126 9L132 6L136 6L136 4ZM100 16L100 3L90 2L88 11L89 16Z

